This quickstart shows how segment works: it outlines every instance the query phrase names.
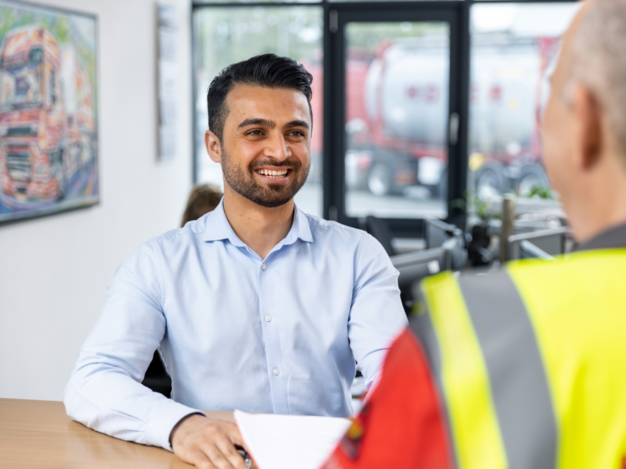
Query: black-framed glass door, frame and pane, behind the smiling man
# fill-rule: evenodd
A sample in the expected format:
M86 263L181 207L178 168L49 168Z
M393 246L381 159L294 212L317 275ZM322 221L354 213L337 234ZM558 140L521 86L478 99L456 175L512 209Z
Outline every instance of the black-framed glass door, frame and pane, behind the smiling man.
M356 226L373 215L417 230L419 219L448 216L461 124L452 70L460 9L388 5L329 12L339 96L328 216Z

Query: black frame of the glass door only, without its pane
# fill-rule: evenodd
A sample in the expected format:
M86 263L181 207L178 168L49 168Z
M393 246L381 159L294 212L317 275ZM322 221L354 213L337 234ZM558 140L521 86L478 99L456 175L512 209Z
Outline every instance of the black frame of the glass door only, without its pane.
M464 31L463 9L465 1L396 1L396 2L351 2L329 3L327 6L324 29L324 89L330 92L324 96L324 218L336 219L339 223L359 226L359 219L345 214L344 183L344 128L346 103L345 73L345 37L342 32L346 23L352 21L443 21L450 25L450 66L449 66L449 101L448 116L458 113L460 116L458 139L455 144L448 141L448 214L456 211L451 209L451 201L462 198L465 190L462 156L466 148L467 109L461 103L467 101L463 97L463 89L469 90L463 78L463 44ZM331 11L337 11L337 31L329 29ZM334 14L334 13L333 13ZM326 43L328 36L328 44ZM468 93L469 91L467 91ZM449 127L449 126L448 126ZM460 159L459 159L460 158ZM466 157L464 158L466 160ZM465 163L466 164L466 163ZM461 176L461 181L458 181ZM466 179L466 178L464 178ZM462 183L462 186L459 186ZM449 218L449 216L448 216ZM394 236L419 237L422 233L421 218L386 218Z

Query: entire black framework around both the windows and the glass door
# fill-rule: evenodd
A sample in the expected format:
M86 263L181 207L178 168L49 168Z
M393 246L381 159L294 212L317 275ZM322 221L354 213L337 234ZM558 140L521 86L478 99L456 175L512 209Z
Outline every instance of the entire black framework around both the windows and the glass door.
M340 34L349 21L407 21L398 20L399 12L410 13L410 21L448 21L450 24L450 81L449 112L459 114L458 139L456 144L448 140L448 216L445 219L461 228L466 224L465 194L468 177L468 124L469 124L469 77L470 77L470 11L474 4L497 3L575 3L572 0L406 0L406 1L241 1L236 3L200 2L192 3L192 80L193 80L193 183L197 180L198 141L195 134L198 116L195 103L198 89L195 78L198 56L195 49L194 18L197 9L239 8L257 6L321 6L324 10L324 150L322 161L322 208L326 219L335 219L349 226L359 226L358 218L344 214L344 124L345 124L345 49L344 36ZM331 11L337 18L337 31L331 32ZM389 19L386 19L389 18ZM341 106L341 107L340 107ZM337 112L341 109L341 112ZM446 135L448 134L446 129ZM423 233L423 219L386 218L396 237L419 238Z

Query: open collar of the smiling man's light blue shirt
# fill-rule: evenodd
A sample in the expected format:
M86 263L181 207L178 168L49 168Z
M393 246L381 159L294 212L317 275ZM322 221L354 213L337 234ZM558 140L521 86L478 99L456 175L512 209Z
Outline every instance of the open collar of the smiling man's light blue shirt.
M294 204L295 206L295 204ZM280 241L279 245L290 245L295 243L295 240L300 240L307 243L313 242L313 235L309 226L309 218L306 214L295 206L294 222L291 225L291 229L285 239ZM239 239L239 236L235 235L226 214L224 213L224 198L220 200L218 206L207 216L207 224L202 236L203 241L219 241L228 240L232 245L245 247L244 241Z

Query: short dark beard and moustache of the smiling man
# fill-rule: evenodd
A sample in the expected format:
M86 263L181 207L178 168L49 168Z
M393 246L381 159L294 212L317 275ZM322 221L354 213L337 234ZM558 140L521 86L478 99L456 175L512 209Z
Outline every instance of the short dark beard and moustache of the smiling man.
M267 188L255 180L255 169L263 166L288 166L292 169L289 184L268 184ZM278 207L289 202L302 188L309 176L310 164L302 166L300 161L277 161L274 158L265 158L252 161L247 169L237 166L225 148L222 148L222 172L228 185L242 194L245 198L262 207Z

